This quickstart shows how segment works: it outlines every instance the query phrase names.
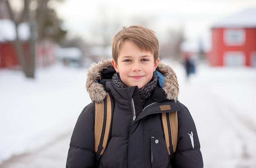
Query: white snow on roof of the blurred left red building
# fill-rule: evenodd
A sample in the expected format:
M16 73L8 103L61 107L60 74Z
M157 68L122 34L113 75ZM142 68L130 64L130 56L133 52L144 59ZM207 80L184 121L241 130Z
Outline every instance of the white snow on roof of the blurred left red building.
M27 40L30 37L29 25L19 24L18 33L21 40ZM8 19L0 19L0 41L13 41L14 39L16 39L14 23Z

